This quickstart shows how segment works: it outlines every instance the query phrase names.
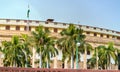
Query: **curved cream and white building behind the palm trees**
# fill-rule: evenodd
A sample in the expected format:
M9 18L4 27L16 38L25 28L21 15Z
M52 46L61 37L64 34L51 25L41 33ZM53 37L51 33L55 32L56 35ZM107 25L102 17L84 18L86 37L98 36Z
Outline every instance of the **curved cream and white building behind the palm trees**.
M27 26L29 23L29 31L27 31ZM4 40L11 40L13 35L21 35L28 34L30 35L31 31L35 31L39 25L44 26L44 29L48 29L51 32L51 36L59 38L59 33L69 26L68 23L54 22L53 19L48 19L46 21L37 21L37 20L21 20L21 19L0 19L0 42ZM97 47L99 45L107 45L108 42L114 42L116 48L120 48L120 32L85 26L81 24L75 24L77 27L84 30L84 34L86 35L86 41L90 43L93 47ZM88 57L90 57L92 53L88 52ZM0 58L3 58L3 55L0 54ZM36 58L36 56L34 57ZM54 61L58 63L56 68L62 68L61 63L61 55L56 57ZM0 66L2 66L2 61L0 61ZM82 62L80 66L82 67ZM34 66L34 65L33 65ZM70 65L68 65L68 68ZM35 67L35 66L34 66ZM114 69L114 66L113 66Z

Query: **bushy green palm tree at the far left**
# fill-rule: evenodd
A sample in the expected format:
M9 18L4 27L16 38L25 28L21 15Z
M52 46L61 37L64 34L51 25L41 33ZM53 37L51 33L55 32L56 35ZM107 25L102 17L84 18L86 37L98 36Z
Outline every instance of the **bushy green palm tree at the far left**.
M1 51L4 54L4 66L24 67L25 54L18 36L13 36L11 41L3 41Z

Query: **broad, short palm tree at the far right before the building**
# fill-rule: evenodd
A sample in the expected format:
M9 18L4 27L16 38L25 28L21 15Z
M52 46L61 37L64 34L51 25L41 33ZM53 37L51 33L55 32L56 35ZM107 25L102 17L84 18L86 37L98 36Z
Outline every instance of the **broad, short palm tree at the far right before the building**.
M96 50L96 49L95 49ZM110 69L111 68L111 58L113 58L113 60L115 61L115 63L117 63L117 55L116 55L116 50L118 51L117 48L114 47L113 43L108 43L108 46L103 46L100 45L97 47L97 54L98 54L98 66L100 66L102 69ZM93 57L91 58L91 61L93 60L97 60L95 58L96 52L94 53ZM95 61L96 62L96 61ZM96 62L97 64L97 62Z

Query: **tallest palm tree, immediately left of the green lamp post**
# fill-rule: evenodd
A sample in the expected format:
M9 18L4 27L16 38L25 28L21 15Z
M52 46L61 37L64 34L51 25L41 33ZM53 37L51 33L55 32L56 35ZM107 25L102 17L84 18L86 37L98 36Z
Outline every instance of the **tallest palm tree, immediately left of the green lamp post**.
M67 54L67 56L71 56L71 68L73 68L74 67L73 60L75 60L74 56L76 53L76 43L83 41L85 39L85 35L83 35L82 29L75 27L73 24L70 24L67 29L64 29L61 32L61 35L63 36L63 38L59 43L63 45L62 46L63 54ZM63 57L64 56L65 55L63 55Z

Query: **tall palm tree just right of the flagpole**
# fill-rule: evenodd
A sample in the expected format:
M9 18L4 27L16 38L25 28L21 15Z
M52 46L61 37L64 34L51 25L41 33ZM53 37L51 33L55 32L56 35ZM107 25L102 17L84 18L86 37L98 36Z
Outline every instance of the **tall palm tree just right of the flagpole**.
M40 56L40 59L39 59L40 68L44 66L44 64L46 64L44 63L46 60L48 64L50 60L50 54L52 56L55 56L57 54L57 50L54 48L53 40L49 36L49 33L50 31L43 30L43 26L39 26L35 32L32 32L34 40L35 40L36 52Z

